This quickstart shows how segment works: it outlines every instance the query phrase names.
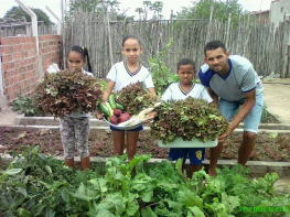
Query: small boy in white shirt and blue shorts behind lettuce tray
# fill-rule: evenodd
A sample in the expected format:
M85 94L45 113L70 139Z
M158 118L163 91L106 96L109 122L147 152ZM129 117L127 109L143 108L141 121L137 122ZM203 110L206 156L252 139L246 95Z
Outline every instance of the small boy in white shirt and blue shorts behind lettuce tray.
M167 100L180 100L192 98L203 98L208 104L213 102L212 97L207 93L207 89L201 84L194 84L193 77L196 73L195 63L191 58L182 58L178 63L176 70L180 82L171 84L161 97L162 101ZM202 167L202 161L205 155L205 148L174 148L169 151L169 159L175 161L178 159L183 159L182 170L184 170L184 163L186 158L190 158L190 177L196 171Z

